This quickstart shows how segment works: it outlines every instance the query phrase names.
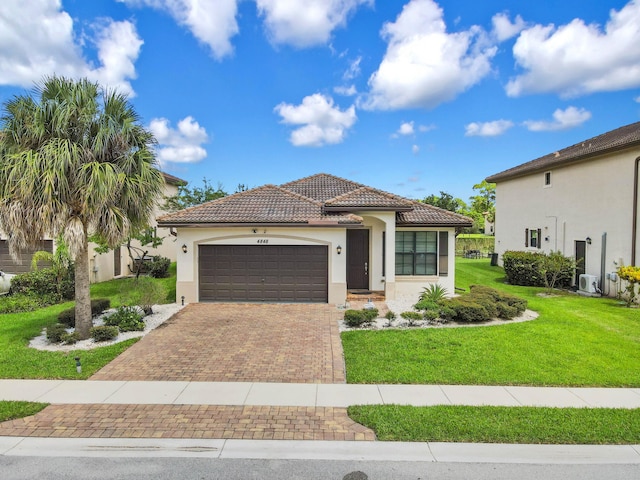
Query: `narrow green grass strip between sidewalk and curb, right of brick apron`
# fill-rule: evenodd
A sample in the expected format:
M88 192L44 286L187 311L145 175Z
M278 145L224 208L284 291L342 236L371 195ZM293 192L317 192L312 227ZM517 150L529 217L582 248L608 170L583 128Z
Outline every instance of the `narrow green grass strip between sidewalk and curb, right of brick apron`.
M637 444L640 410L359 405L349 416L381 441Z

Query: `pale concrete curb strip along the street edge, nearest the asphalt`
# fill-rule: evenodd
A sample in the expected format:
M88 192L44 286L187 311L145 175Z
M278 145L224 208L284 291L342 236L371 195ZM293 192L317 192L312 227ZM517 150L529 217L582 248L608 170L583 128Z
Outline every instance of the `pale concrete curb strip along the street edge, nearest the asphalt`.
M640 465L640 445L0 437L1 456Z

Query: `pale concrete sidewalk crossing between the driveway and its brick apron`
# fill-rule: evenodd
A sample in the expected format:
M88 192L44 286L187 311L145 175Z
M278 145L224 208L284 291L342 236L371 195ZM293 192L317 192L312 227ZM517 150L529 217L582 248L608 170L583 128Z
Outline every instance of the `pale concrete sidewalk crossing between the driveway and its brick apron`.
M0 400L288 407L400 404L640 408L640 388L0 380Z

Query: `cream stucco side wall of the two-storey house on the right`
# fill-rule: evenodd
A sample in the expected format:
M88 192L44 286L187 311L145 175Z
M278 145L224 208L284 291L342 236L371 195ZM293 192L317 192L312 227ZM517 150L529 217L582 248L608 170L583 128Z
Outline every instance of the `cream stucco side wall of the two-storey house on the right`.
M545 172L498 182L496 252L556 250L575 256L575 241L586 246L586 273L600 277L603 234L605 272L631 261L633 176L640 150L626 151ZM525 247L525 229L542 230L541 249ZM615 263L614 263L615 262ZM605 281L605 289L615 285ZM605 292L606 293L606 292Z

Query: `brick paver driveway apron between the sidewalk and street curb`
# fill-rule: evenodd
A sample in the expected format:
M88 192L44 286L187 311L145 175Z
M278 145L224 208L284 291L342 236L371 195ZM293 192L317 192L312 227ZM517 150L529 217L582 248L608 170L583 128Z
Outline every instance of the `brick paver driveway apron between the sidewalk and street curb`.
M375 440L346 408L206 405L51 405L0 423L0 436Z

